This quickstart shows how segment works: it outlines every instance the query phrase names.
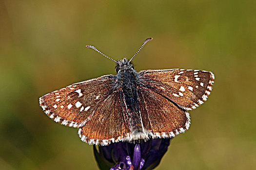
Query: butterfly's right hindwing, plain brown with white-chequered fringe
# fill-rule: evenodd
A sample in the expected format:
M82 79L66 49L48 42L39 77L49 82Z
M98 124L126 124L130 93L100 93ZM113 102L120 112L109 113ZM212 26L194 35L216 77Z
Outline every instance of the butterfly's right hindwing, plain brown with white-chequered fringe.
M174 137L188 130L190 117L184 109L149 88L138 91L143 125L153 138Z

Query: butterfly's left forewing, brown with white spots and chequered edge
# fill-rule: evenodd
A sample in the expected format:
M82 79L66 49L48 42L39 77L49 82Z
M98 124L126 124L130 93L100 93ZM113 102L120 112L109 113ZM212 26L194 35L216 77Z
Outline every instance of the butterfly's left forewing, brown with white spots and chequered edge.
M39 98L45 114L70 127L80 127L110 95L115 76L105 75L69 85Z

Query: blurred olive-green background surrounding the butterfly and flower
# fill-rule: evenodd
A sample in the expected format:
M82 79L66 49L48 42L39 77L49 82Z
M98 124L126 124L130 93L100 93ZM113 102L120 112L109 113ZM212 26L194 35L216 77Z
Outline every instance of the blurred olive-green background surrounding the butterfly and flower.
M0 170L96 170L77 129L49 119L39 97L104 74L118 60L137 70L210 70L216 81L158 170L256 166L255 0L0 0Z

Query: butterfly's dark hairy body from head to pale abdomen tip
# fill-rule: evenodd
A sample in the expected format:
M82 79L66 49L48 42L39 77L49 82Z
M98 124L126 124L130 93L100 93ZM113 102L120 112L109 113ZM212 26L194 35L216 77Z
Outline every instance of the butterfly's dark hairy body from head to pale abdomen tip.
M139 74L126 58L119 60L116 68L117 88L124 108L124 118L130 129L130 138L145 139L148 136L143 127L138 101Z

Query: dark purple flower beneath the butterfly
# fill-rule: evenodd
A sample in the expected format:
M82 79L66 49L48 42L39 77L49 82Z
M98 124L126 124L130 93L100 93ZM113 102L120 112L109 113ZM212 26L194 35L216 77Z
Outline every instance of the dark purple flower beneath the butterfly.
M100 170L153 170L170 145L171 138L150 139L137 144L111 143L108 146L94 145L94 155Z

